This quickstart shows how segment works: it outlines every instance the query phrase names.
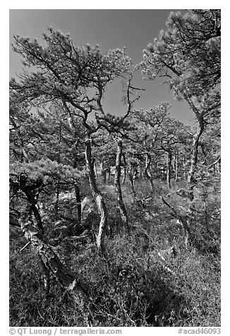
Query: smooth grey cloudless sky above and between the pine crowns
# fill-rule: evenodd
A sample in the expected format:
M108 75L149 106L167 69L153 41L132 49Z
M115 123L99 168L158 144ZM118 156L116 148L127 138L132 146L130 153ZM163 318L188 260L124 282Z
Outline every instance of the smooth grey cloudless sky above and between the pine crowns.
M10 43L13 35L37 38L42 42L42 32L51 26L61 32L69 32L75 45L99 44L102 52L126 47L133 63L143 60L143 49L157 37L171 11L178 9L13 9L10 10ZM10 47L10 77L22 71L20 55ZM159 80L143 81L141 73L135 77L135 85L145 88L136 108L149 109L160 102L170 102L171 116L193 124L193 112L185 102L177 102L167 85ZM104 99L105 112L123 114L121 80L109 86Z

